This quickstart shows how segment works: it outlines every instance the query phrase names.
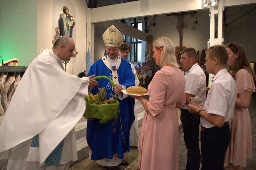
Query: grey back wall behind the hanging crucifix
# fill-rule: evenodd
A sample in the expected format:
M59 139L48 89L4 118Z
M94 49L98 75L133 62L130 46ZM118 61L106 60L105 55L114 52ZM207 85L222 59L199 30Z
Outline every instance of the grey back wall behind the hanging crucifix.
M198 21L195 25L194 21ZM180 36L176 29L177 18L166 15L157 16L155 19L156 27L151 27L148 34L152 35L154 39L160 36L166 36L172 40L174 46L180 46ZM209 10L197 11L194 18L187 15L183 19L183 45L193 47L197 50L207 48L207 41L210 37L210 17ZM192 30L192 27L196 30Z

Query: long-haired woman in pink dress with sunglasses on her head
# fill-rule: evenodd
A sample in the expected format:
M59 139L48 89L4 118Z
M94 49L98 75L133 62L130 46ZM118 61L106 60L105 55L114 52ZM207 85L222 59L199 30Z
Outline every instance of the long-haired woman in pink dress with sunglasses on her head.
M225 161L229 163L229 169L243 169L246 166L246 158L252 157L252 131L248 106L250 93L255 92L256 76L240 44L229 43L226 49L229 65L227 70L236 81L237 99L234 118L229 122L231 139L225 152Z

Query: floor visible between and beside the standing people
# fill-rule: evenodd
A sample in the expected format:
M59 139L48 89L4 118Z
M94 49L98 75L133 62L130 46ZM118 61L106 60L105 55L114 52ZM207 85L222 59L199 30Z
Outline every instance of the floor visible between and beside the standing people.
M256 169L256 96L251 96L251 103L249 106L249 112L251 116L251 122L252 122L252 143L253 143L253 157L247 159L246 161L246 167L244 170L255 170ZM179 115L180 113L178 113ZM180 117L180 116L179 116ZM141 127L140 127L141 128ZM139 130L140 130L139 128ZM180 131L180 157L179 157L179 170L185 169L186 166L186 160L187 160L187 150L184 143L184 135L183 131ZM125 158L127 162L130 164L128 166L120 166L120 169L122 170L138 170L138 150L137 148L131 147L131 155L127 158ZM100 170L104 169L102 166L100 166L98 163L85 158L84 160L81 160L80 163L72 166L70 170ZM227 170L228 168L224 168Z

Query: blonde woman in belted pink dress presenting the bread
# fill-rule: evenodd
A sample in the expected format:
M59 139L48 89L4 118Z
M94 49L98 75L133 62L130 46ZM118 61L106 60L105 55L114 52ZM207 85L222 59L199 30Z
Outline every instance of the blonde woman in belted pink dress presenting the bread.
M172 41L160 37L153 43L153 58L162 68L148 85L149 101L139 99L145 108L139 139L138 166L141 170L179 169L179 123L177 108L185 105L185 78L179 69Z

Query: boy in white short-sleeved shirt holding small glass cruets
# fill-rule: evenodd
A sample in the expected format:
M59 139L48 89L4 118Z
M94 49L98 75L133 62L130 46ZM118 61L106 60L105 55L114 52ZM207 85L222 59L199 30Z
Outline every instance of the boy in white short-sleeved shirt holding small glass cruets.
M201 116L202 170L224 169L224 154L231 137L228 121L233 119L236 103L236 83L225 69L228 61L225 47L215 45L206 53L205 66L215 77L204 107L189 104L188 111Z

